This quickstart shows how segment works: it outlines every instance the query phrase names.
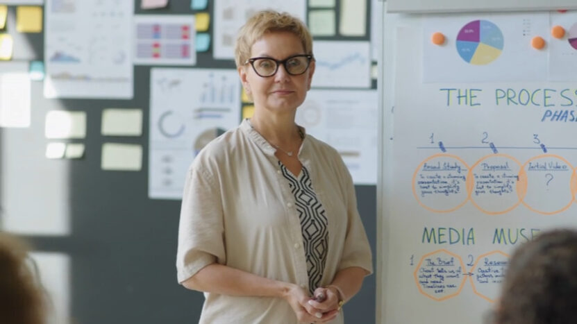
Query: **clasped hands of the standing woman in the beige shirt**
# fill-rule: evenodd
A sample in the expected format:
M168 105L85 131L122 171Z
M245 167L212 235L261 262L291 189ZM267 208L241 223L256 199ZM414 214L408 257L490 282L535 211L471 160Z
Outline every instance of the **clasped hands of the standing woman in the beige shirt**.
M287 302L301 323L327 323L333 321L340 311L340 296L334 287L319 287L313 296L294 285L287 296Z

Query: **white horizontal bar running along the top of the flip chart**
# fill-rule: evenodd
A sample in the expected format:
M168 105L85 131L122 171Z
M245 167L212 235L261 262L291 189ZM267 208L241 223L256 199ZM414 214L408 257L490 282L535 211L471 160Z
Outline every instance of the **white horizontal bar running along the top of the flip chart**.
M388 0L389 12L474 12L576 9L574 0Z

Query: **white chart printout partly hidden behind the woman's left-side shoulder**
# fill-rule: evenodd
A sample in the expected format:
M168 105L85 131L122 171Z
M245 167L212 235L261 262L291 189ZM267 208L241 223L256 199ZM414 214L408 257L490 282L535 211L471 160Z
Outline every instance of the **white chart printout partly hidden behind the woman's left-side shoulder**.
M150 88L149 197L181 199L196 154L240 123L238 74L153 68Z

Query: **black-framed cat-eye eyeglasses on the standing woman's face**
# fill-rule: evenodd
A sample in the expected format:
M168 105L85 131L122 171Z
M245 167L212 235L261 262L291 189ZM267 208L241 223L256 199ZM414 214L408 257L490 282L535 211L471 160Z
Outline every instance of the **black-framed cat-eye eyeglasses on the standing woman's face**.
M299 76L306 72L310 66L312 55L299 54L285 58L284 60L275 60L274 58L249 58L244 64L251 63L254 71L259 76L267 78L274 76L278 71L278 66L283 65L287 74L291 76Z

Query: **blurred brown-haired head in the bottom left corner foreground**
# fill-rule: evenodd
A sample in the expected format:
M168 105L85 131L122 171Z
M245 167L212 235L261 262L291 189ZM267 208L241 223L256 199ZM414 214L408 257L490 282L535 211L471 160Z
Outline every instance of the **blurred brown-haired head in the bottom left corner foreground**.
M28 264L28 247L0 232L0 323L44 323L44 294Z

